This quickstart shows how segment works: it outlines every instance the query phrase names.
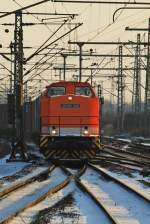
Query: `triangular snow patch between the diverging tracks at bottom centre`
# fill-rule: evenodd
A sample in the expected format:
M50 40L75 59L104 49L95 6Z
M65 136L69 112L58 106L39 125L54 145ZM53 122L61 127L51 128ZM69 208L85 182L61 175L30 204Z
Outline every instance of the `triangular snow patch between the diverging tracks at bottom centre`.
M62 224L62 223L82 223L82 224L93 224L102 223L110 224L112 223L108 217L105 215L103 210L101 210L92 201L89 196L84 194L74 182L71 182L67 187L60 190L58 193L53 194L51 197L47 197L44 201L39 204L25 210L20 213L18 217L11 220L11 224L29 224L31 223L36 215L38 215L40 210L46 208L52 208L56 203L62 200L67 195L71 194L73 197L73 204L69 207L64 206L63 212L68 214L67 216L61 217L55 210L54 214L51 215L51 224ZM60 211L61 212L61 211ZM70 216L69 216L70 213ZM77 214L77 219L71 214ZM63 222L62 222L63 219Z

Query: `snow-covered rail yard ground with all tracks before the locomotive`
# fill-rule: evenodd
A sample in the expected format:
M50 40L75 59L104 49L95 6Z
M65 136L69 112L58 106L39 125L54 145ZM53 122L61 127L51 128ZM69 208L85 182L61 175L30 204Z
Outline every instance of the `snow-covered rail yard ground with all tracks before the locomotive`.
M148 157L111 147L107 143L90 163L69 168L46 162L33 143L30 162L7 163L3 156L0 223L149 224Z

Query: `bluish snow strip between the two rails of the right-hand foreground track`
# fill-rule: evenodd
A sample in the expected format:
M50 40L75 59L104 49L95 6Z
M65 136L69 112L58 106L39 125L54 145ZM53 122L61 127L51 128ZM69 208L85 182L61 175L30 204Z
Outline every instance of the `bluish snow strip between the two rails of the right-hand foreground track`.
M111 181L107 177L105 178L91 169L87 169L85 174L82 176L82 180L95 184L104 192L107 192L109 197L118 206L125 207L131 217L139 220L139 223L150 223L150 205L144 199L137 197L135 194L123 188L119 184Z

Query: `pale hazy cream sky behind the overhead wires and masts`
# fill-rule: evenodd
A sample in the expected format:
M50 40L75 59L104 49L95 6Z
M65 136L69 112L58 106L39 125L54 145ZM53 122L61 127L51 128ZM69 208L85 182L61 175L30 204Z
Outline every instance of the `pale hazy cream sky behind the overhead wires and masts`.
M35 2L35 0L5 0L0 1L0 9L1 11L12 11L15 9L18 9L19 5L26 6ZM128 2L128 1L127 1ZM131 1L130 1L131 2ZM138 2L138 1L136 1ZM148 0L141 2L150 2ZM122 5L123 6L123 5ZM29 12L45 12L45 13L77 13L78 16L72 20L73 23L83 23L83 25L78 28L75 32L71 33L71 35L68 35L67 37L63 38L61 41L57 42L57 48L70 48L68 45L68 40L72 41L136 41L136 35L137 32L131 32L131 31L125 31L126 26L130 27L143 27L146 28L148 26L148 18L149 18L149 11L150 10L122 10L116 15L116 21L113 23L112 16L114 11L121 6L119 5L103 5L103 4L68 4L68 3L53 3L48 2L44 3L40 6L34 7L32 9L28 9ZM57 19L56 19L56 18ZM24 30L24 46L25 47L33 47L33 49L25 49L24 50L24 56L28 57L33 51L36 50L37 47L39 47L59 26L54 25L52 22L62 22L64 18L58 19L58 16L31 16L31 15L23 15L23 22L34 22L39 23L41 22L41 19L45 18L51 18L50 20L46 20L47 22L51 22L49 25L35 25L35 26L25 26L23 28ZM54 19L55 18L55 19ZM3 23L13 23L14 22L14 15L8 16L6 18L0 19L0 43L3 45L3 48L1 49L1 52L9 52L9 44L10 41L14 40L14 26L3 26ZM72 25L73 27L73 25ZM5 29L9 29L9 33L5 33ZM51 40L55 40L57 37L62 35L63 33L67 32L70 29L70 26L63 26L62 29L53 37ZM147 38L147 34L144 32L141 33L141 39L144 40L144 38ZM75 46L71 46L72 48L75 48ZM98 45L85 45L84 50L89 50L90 48L93 48L94 51L97 53L117 53L118 49L117 46L98 46ZM124 53L128 53L131 51L134 53L134 49L124 49ZM46 51L45 51L46 52ZM53 52L56 52L53 50ZM142 51L142 53L146 53L146 51ZM24 66L25 72L36 62L39 60L40 57L33 58L26 66ZM102 58L87 58L86 60L83 60L83 67L90 66L92 63L100 63ZM3 59L1 57L0 61L4 66L10 69L10 63ZM52 58L51 62L53 62L57 66L58 64L62 64L62 58ZM78 66L78 58L67 58L67 63L69 64L76 64ZM117 67L118 62L117 60L111 61L110 59L104 59L101 66L107 65L107 67ZM124 60L124 66L130 66L132 67L134 65L134 60ZM146 61L144 61L146 63ZM43 68L46 68L46 65L43 65ZM25 80L29 79L31 75L34 75L35 70L28 76L25 77ZM7 76L8 72L7 70L1 70L0 79L2 77ZM54 71L47 71L44 73L41 73L41 77L44 79L57 79L54 75L57 75ZM77 75L78 72L72 71L67 72L67 79L71 79L72 75ZM83 74L89 75L89 71L84 71ZM100 74L112 74L110 71L101 71L97 72L98 75ZM115 74L113 72L113 74ZM127 76L133 76L131 72L128 72L126 74ZM37 79L42 79L39 76L36 77ZM5 84L7 79L4 79L1 81L1 84ZM101 82L104 81L104 89L107 91L111 91L111 82L110 79L97 79L97 81ZM8 81L7 81L8 83ZM6 83L6 84L7 84ZM34 86L38 90L41 87L44 87L47 85L48 82L42 81L41 85L39 84L38 80L34 80L31 82L28 82L29 86ZM145 85L145 72L142 72L142 84ZM1 88L2 88L1 85ZM131 91L132 90L132 78L128 77L126 78L126 89L129 89L126 91L126 99L129 101L131 99ZM116 89L116 83L114 88ZM34 91L35 90L30 90ZM144 89L142 90L142 92ZM110 98L110 94L107 94L106 91L104 91L105 97ZM116 93L115 93L116 94ZM142 94L143 95L143 94Z

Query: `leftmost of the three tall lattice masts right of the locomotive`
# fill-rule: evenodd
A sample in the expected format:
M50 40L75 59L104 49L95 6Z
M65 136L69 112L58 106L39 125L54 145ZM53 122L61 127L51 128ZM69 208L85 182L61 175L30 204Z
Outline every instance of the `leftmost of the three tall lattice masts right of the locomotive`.
M117 129L119 132L123 129L123 73L122 73L122 46L119 46L119 66L118 66L118 94L117 94Z

